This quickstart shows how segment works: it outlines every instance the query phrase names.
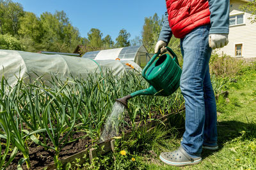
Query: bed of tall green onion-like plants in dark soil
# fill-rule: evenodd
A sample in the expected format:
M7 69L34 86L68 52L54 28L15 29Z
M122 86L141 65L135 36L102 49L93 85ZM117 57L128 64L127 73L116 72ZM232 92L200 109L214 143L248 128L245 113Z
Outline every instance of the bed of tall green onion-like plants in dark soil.
M29 84L19 80L10 87L3 77L0 169L16 169L20 164L23 169L38 169L53 161L60 165L70 155L92 148L101 137L115 99L147 87L141 75L132 72L121 77L106 73L104 77L92 75L86 80L64 82L54 77L51 86L38 78ZM122 133L159 120L182 106L179 90L169 97L134 97L122 118Z

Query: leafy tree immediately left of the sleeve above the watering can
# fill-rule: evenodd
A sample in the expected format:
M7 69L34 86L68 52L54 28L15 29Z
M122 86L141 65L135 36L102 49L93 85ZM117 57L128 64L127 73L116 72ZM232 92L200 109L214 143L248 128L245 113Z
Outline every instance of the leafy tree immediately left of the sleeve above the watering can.
M163 17L159 19L155 13L153 17L145 17L145 24L142 31L142 42L149 53L154 53L154 45L156 45L159 33L163 26Z

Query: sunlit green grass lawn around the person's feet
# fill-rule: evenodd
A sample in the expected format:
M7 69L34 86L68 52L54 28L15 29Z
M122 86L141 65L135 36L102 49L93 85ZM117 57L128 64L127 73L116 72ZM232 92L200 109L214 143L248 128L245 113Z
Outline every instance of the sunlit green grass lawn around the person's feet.
M248 70L228 82L228 98L220 97L216 152L203 150L202 162L195 166L171 167L158 157L145 155L148 169L256 169L256 71ZM179 147L182 134L166 139L163 150Z

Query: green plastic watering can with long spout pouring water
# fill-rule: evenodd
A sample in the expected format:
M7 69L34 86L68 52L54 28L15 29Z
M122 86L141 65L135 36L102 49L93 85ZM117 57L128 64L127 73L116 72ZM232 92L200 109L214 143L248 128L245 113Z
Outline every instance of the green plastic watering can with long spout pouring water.
M160 51L157 52L147 63L142 71L142 76L148 81L150 87L148 89L138 90L128 96L116 99L119 103L124 104L127 108L127 100L132 97L144 96L170 96L180 86L180 75L182 69L179 66L177 55L169 47L166 47L172 57L165 53L156 59Z

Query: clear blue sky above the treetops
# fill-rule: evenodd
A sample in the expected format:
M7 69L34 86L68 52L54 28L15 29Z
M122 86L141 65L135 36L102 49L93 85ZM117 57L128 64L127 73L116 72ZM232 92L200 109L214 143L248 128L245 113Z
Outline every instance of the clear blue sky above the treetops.
M133 39L141 37L145 17L166 11L164 0L13 0L22 4L24 11L31 11L40 17L45 11L65 11L82 37L92 28L99 29L103 37L110 35L115 41L120 29L126 29Z

